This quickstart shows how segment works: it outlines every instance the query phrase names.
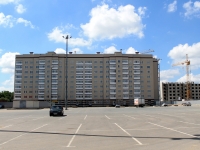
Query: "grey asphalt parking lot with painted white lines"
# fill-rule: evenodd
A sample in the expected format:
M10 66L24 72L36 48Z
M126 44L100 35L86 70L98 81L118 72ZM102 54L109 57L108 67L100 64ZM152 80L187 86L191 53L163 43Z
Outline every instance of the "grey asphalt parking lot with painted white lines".
M199 150L200 107L0 110L0 150Z

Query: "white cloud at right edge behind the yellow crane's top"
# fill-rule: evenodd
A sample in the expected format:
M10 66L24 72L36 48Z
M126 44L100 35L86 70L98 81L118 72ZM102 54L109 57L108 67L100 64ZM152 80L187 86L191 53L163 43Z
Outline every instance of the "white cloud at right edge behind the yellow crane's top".
M173 47L169 53L168 57L172 59L172 63L176 64L179 62L184 62L186 60L186 54L188 54L190 64L192 69L198 69L200 66L200 42L194 43L193 45L188 45L187 43Z

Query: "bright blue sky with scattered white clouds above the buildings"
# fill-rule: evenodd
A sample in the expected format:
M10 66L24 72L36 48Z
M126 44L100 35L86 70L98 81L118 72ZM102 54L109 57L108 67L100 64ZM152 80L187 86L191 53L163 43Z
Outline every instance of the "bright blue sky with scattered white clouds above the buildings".
M200 81L200 1L191 0L0 0L0 91L13 91L16 54L83 54L154 50L161 81Z

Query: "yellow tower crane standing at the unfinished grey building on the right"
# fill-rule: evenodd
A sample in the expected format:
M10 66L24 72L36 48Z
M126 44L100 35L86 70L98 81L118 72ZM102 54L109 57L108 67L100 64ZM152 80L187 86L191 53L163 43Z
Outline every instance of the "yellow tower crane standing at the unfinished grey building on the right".
M189 72L189 66L190 66L190 60L188 60L188 54L186 54L186 60L184 62L173 64L172 66L179 66L179 65L186 65L186 85L187 85L187 91L186 91L186 99L191 99L191 90L190 90L190 72Z

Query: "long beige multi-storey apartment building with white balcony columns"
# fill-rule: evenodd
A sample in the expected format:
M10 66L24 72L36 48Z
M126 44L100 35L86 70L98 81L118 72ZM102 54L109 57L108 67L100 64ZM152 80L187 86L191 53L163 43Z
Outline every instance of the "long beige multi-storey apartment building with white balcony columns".
M133 105L159 99L158 60L151 54L16 55L14 101L67 105ZM66 88L67 66L67 88Z

